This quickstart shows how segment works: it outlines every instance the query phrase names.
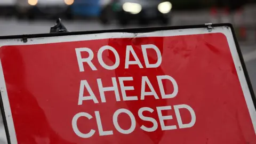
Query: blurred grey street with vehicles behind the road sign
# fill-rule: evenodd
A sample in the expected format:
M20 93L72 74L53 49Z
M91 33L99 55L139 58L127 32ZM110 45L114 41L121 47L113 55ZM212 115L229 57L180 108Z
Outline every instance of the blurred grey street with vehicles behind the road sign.
M256 92L256 0L0 0L0 36L232 23ZM0 117L0 144L7 143Z

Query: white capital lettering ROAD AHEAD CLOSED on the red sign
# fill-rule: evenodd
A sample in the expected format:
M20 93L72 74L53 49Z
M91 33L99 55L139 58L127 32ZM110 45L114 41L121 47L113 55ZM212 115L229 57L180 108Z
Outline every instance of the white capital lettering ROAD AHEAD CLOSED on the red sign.
M148 45L141 45L142 48L142 54L143 54L143 59L145 62L145 66L146 68L157 68L161 65L162 62L162 55L161 52L159 51L158 47L156 45L153 44L148 44ZM149 63L148 60L148 53L147 50L148 49L153 49L156 54L157 54L157 62L156 63ZM115 63L112 66L108 66L102 59L102 53L103 51L108 50L114 53L115 55ZM87 58L82 58L82 52L87 52L89 54L89 56ZM134 61L130 61L130 55L132 55L132 57L134 58ZM85 71L84 69L84 63L87 63L87 65L90 66L90 68L92 70L98 70L95 65L92 63L93 57L94 57L94 53L91 49L89 48L77 48L76 49L76 56L77 56L77 61L78 61L78 66L79 66L79 70ZM108 70L114 70L116 69L119 64L120 64L120 58L118 55L118 52L111 46L102 46L98 53L97 53L97 58L98 61L100 63L100 65ZM127 45L126 46L126 57L125 57L125 69L129 68L130 65L138 65L139 68L143 68L137 54L135 53L135 51L133 50L133 47L131 45ZM172 82L173 85L173 92L172 93L165 93L164 90L164 86L163 86L163 80L168 80ZM117 81L118 80L118 81ZM100 93L100 99L97 99L97 97L95 96L94 92L91 89L91 86L89 85L89 83L85 80L81 80L80 82L80 88L79 88L79 97L78 97L78 105L83 105L84 102L86 102L87 100L92 100L94 103L103 103L103 102L107 102L106 101L106 95L105 92L108 91L114 91L115 92L115 99L116 101L121 101L121 98L123 101L136 101L136 100L145 100L147 97L154 97L156 100L158 99L171 99L177 96L178 94L178 84L175 81L175 79L169 75L159 75L156 76L156 80L158 83L158 87L153 87L153 85L151 84L151 82L149 81L149 78L147 76L142 76L141 77L141 93L140 95L127 95L126 91L130 91L130 90L134 90L133 86L125 86L124 82L125 81L133 81L133 77L111 77L111 79L109 78L108 81L112 81L113 86L110 87L103 87L101 78L95 79L95 82L97 82L98 84L98 88L99 88L99 93ZM146 85L149 87L150 91L146 92L145 91L145 87ZM118 91L118 87L120 87L121 89L121 93L119 93ZM89 95L84 95L84 90L87 90L87 92L89 92ZM159 89L161 95L157 95L155 89ZM160 124L160 127L162 129L162 131L166 131L166 130L175 130L175 129L185 129L185 128L189 128L189 127L193 127L194 124L196 123L196 114L193 110L193 108L191 108L188 105L185 104L181 104L181 105L174 105L173 106L174 109L174 113L175 116L177 118L177 122L178 122L178 126L177 125L165 125L164 121L167 119L173 119L172 115L167 115L167 116L163 116L162 115L162 111L163 110L172 110L172 106L160 106L160 107L156 107L156 111L157 111L157 115L158 118L157 120L153 117L147 117L147 116L143 116L143 111L149 111L150 113L153 113L154 109L149 108L149 107L142 107L138 110L138 116L140 117L140 119L142 119L143 121L148 121L153 123L153 126L151 127L146 127L145 125L142 125L140 127L140 129L142 129L143 131L146 132L153 132L156 131L158 129L158 123ZM189 123L183 123L182 122L182 116L180 114L180 109L187 109L191 115L191 121ZM129 129L124 130L122 129L122 127L118 124L117 118L120 114L126 114L130 117L130 121L131 121L131 126ZM77 121L79 118L81 117L86 117L87 119L91 119L93 117L95 117L97 125L98 125L98 131L99 131L99 135L103 136L103 135L113 135L113 130L103 130L103 126L101 123L101 117L100 117L100 111L94 111L93 116L89 113L86 112L81 112L76 114L73 117L72 120L72 126L73 126L73 130L74 132L78 135L78 137L81 138L90 138L94 135L96 130L88 130L87 133L83 133L79 130L79 127L77 126ZM115 129L123 134L130 134L135 130L136 127L136 119L133 115L133 113L128 110L128 109L118 109L115 111L115 113L113 114L113 124Z

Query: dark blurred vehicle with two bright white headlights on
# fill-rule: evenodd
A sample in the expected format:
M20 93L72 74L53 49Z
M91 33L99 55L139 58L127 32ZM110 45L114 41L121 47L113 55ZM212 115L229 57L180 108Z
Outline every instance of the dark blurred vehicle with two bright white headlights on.
M172 4L159 0L118 0L112 4L116 18L121 25L131 20L139 20L147 24L151 20L158 20L167 25L170 20Z

